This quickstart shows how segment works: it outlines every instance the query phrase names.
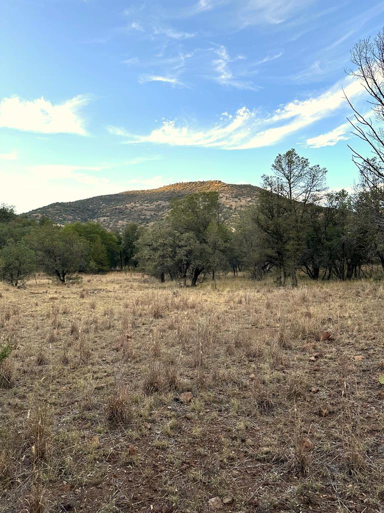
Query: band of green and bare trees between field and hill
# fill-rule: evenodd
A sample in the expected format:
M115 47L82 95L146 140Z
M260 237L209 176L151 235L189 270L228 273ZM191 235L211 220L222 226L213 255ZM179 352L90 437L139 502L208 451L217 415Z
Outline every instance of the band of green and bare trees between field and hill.
M227 218L216 192L174 199L150 227L111 232L96 223L57 226L17 216L0 205L0 278L17 286L37 269L65 284L74 273L138 268L165 280L197 285L239 271L280 285L298 276L340 281L384 273L384 30L359 41L349 73L364 86L370 114L347 98L353 133L368 154L352 150L355 191L327 192L327 170L295 149L276 156L258 201Z

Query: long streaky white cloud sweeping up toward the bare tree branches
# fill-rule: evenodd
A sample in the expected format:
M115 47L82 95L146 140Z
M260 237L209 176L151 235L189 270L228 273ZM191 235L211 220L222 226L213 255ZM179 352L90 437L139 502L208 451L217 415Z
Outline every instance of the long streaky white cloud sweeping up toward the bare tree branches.
M349 78L344 91L349 98L356 98L364 93L364 88L358 81ZM176 121L171 120L163 121L149 135L130 135L116 127L109 127L109 131L125 137L126 143L217 147L226 150L261 148L278 143L289 134L347 107L345 94L341 84L337 84L317 97L289 102L266 116L242 107L234 116L221 114L220 122L211 128L177 125Z

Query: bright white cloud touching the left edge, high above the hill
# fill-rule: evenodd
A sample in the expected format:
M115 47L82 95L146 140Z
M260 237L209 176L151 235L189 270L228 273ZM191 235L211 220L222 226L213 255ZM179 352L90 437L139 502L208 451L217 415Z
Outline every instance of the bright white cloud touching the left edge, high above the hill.
M14 128L39 133L73 133L87 135L79 110L90 97L75 96L62 104L53 105L44 97L23 100L18 96L0 100L0 128Z

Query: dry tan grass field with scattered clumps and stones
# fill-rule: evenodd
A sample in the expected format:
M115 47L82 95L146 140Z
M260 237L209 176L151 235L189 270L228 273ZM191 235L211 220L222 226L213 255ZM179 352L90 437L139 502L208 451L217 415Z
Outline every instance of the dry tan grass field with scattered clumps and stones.
M0 512L384 510L380 283L0 292Z

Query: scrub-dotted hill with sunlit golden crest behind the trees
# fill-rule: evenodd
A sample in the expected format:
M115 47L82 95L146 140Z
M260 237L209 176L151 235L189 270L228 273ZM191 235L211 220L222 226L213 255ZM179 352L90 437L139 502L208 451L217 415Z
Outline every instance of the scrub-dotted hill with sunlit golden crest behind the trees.
M219 180L182 182L158 189L126 191L87 200L52 203L31 210L27 215L34 219L46 215L58 224L94 221L108 229L119 229L126 223L151 224L164 216L172 199L196 192L219 192L220 201L228 213L236 215L238 209L255 202L260 190L260 187L254 185L226 184Z

